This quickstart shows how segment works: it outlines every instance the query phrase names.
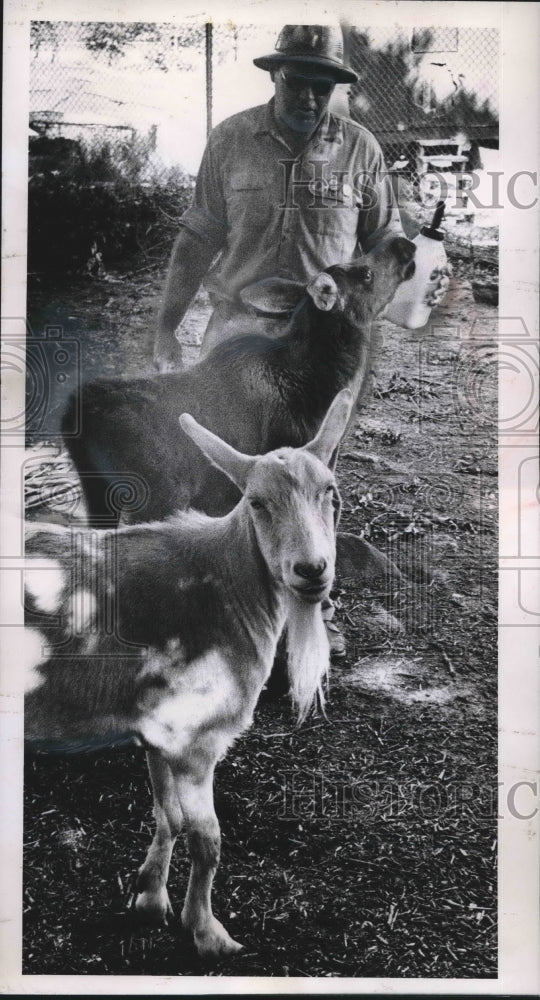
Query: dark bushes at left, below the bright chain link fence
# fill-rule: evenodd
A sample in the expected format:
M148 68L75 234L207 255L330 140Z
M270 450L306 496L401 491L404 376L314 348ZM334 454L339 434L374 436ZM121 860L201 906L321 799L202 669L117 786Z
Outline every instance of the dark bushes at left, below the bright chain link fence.
M179 168L152 164L137 136L91 148L68 139L30 143L28 270L56 274L84 270L92 248L105 271L135 257L170 252L192 185Z

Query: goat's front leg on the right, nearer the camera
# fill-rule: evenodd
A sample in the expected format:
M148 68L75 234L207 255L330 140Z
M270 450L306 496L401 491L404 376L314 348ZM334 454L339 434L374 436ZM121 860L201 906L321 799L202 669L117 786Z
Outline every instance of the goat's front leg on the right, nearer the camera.
M184 814L191 857L182 923L193 932L197 951L203 958L223 958L235 954L242 947L233 941L212 913L210 897L221 842L214 811L213 776L214 763L204 775L184 770L179 770L176 775L176 790Z

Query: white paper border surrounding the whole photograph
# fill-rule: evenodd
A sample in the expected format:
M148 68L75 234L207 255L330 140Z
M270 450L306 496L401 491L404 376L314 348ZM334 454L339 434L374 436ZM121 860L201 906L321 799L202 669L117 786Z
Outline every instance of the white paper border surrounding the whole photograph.
M294 13L294 17L293 17ZM520 171L535 176L536 204L520 209L505 196L501 212L499 337L516 317L527 336L538 341L538 170L540 166L540 4L416 2L364 0L342 3L329 11L319 3L291 0L279 7L270 0L237 2L234 7L207 0L204 8L183 0L7 0L4 8L3 227L2 327L8 336L24 327L26 313L27 133L29 94L29 35L32 20L103 20L180 22L228 20L238 23L313 22L340 14L351 23L422 26L494 25L501 38L501 126L504 179ZM280 17L281 14L281 17ZM529 190L529 189L528 189ZM531 202L533 202L531 195ZM24 408L24 377L7 372L5 398ZM536 386L538 406L538 386ZM500 406L512 405L515 384L501 370ZM534 435L517 438L500 434L500 782L535 785L539 805L538 670L540 618L520 604L521 586L534 580L532 593L540 609L540 523L526 511L538 510L534 490L518 488L524 460L538 460ZM2 448L2 604L9 609L10 568L17 565L22 514L21 475L24 435ZM521 546L516 539L522 536ZM531 600L529 587L528 600ZM530 607L530 603L528 605ZM6 620L6 619L3 619ZM13 619L8 619L10 622ZM21 623L22 624L22 623ZM519 631L518 631L519 630ZM539 933L539 809L529 820L513 818L502 809L499 849L499 974L497 979L287 979L218 977L23 976L22 955L22 680L17 670L17 628L3 630L0 774L1 829L0 983L7 994L205 994L205 993L352 993L352 994L536 994L540 981Z

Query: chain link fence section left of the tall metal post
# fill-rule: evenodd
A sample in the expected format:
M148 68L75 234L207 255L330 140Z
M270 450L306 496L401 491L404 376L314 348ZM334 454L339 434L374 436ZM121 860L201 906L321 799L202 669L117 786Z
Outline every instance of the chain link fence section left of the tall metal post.
M186 173L168 147L187 105L204 104L204 51L204 25L34 21L30 176L66 159L104 181Z

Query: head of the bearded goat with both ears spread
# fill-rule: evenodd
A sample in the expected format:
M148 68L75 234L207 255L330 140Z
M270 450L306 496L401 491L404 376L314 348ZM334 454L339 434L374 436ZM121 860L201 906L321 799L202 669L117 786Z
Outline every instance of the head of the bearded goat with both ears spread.
M351 405L344 389L313 441L255 457L231 448L189 415L180 417L184 431L243 493L242 516L274 580L308 604L326 597L334 578L339 494L328 463Z

